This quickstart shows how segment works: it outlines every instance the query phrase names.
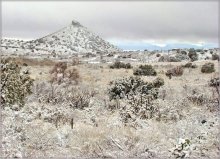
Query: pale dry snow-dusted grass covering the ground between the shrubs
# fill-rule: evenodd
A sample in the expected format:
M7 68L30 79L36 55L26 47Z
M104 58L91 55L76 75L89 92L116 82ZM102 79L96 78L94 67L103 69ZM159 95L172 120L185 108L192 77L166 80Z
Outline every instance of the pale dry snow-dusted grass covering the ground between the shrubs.
M91 98L89 107L78 110L69 105L30 100L20 110L20 114L17 113L17 117L11 110L3 112L4 130L9 131L16 126L25 130L29 138L23 141L25 146L20 145L20 149L26 157L174 158L169 150L175 147L179 138L187 138L196 147L191 151L191 158L217 158L220 147L219 112L211 103L213 91L208 82L218 75L218 62L214 62L215 73L202 74L200 70L205 62L207 61L194 62L197 68L185 68L182 76L172 79L166 77L165 72L186 62L151 63L158 73L157 77L165 81L160 89L159 99L154 103L160 110L160 116L150 120L137 119L126 126L121 120L120 110L107 109L110 103L106 90L110 81L131 76L133 70L110 69L108 64L76 65L74 68L81 77L79 86L98 92ZM132 65L137 67L140 64ZM52 66L33 65L29 68L31 76L39 82L49 79ZM147 81L155 78L142 77ZM187 98L201 94L203 103L195 103ZM41 116L39 112L42 112ZM48 119L59 113L63 117L73 118L73 128L68 120L60 122L58 128L54 123L48 122ZM14 116L21 119L16 120L16 126L13 124ZM30 122L26 124L26 120ZM203 120L206 120L205 124L201 123ZM6 143L13 142L13 137L4 132L5 136L9 136L4 139ZM22 136L21 133L18 134ZM20 143L17 141L15 144ZM38 145L42 147L36 147ZM6 147L11 156L17 153L13 151L16 149L13 146Z

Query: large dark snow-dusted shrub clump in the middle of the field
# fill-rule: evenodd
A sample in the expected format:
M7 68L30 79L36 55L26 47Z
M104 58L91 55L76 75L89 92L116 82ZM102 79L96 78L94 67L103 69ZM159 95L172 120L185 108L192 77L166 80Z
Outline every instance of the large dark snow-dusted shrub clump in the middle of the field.
M131 76L111 82L108 94L110 100L121 100L125 104L119 109L123 121L127 123L129 119L153 117L157 109L152 101L158 98L158 90L162 85L164 85L162 78L145 82L139 77Z

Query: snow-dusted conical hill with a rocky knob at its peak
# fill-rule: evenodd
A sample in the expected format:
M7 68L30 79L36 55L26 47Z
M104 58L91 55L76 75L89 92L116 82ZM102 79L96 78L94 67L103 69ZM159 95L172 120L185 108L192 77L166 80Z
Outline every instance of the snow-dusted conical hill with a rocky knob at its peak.
M118 52L119 49L90 32L76 21L43 38L26 43L25 48L45 50L51 53Z

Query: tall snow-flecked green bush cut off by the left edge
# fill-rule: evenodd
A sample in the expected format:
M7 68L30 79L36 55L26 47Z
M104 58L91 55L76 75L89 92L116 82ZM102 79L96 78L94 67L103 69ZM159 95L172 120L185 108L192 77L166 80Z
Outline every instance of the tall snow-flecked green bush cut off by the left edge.
M33 79L21 73L21 68L10 59L1 60L1 103L3 105L24 104L31 93Z

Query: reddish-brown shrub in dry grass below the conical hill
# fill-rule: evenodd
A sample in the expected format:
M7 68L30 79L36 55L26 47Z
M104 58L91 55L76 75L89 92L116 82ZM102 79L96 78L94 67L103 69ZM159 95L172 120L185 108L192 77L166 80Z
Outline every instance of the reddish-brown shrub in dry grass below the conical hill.
M77 84L80 77L76 68L67 68L66 62L55 64L50 73L52 74L50 82L57 82L58 84L61 84L62 82L71 83L72 81Z

